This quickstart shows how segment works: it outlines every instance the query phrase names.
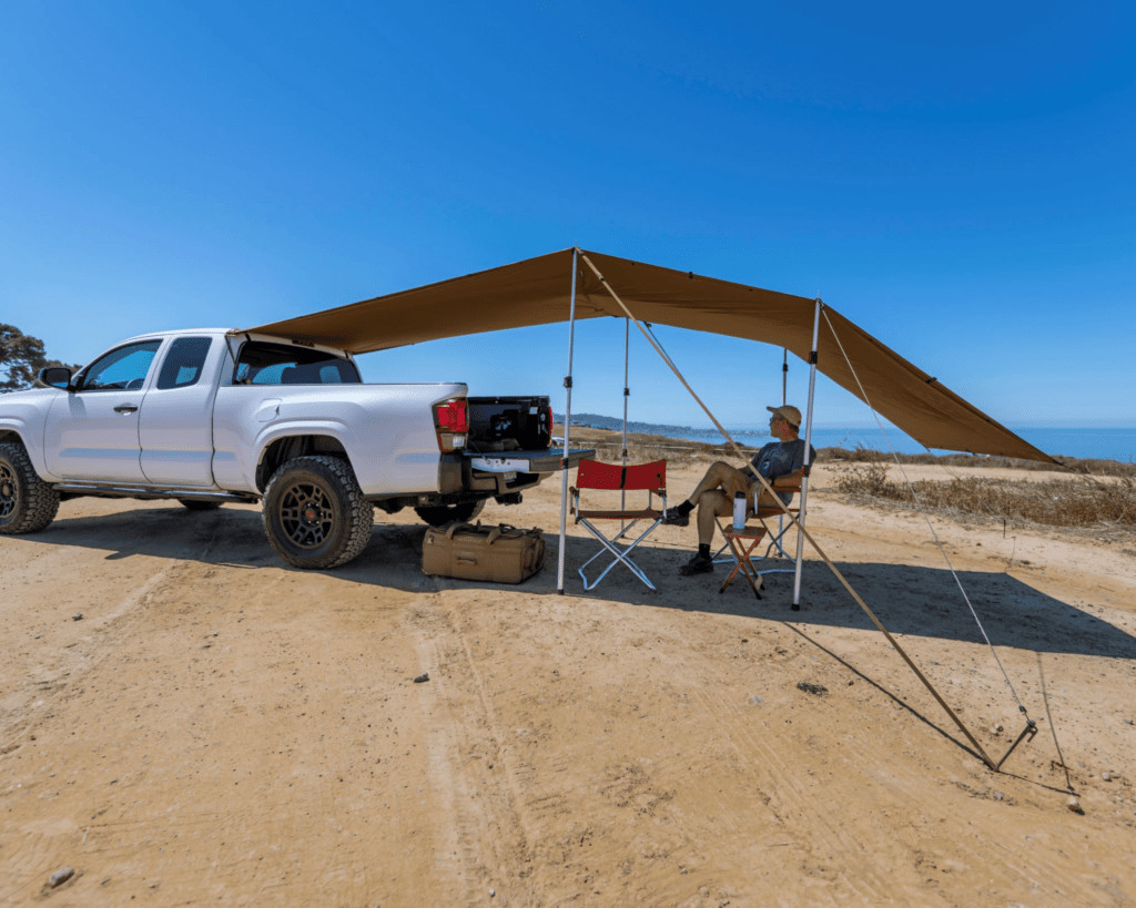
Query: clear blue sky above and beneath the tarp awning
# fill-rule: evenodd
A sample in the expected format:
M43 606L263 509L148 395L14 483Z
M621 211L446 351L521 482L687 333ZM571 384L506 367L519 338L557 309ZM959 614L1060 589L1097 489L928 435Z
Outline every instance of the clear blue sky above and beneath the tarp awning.
M0 321L85 362L579 243L819 293L1010 424L1136 424L1134 10L7 0ZM727 426L779 401L780 351L659 335ZM361 364L560 410L566 342ZM623 323L577 342L619 413ZM636 337L630 384L708 424ZM817 420L870 415L821 379Z

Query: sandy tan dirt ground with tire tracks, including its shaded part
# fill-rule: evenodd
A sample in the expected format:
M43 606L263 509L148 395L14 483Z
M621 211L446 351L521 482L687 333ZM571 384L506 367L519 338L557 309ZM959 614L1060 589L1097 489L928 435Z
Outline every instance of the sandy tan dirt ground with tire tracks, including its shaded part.
M829 482L818 541L1000 759L1025 720L926 526ZM569 524L558 595L559 491L483 515L549 533L518 587L423 575L412 512L331 572L252 506L0 538L0 905L1136 905L1131 541L935 519L1037 722L994 773L815 553L800 612L679 577L693 527L641 548L659 592L585 595Z

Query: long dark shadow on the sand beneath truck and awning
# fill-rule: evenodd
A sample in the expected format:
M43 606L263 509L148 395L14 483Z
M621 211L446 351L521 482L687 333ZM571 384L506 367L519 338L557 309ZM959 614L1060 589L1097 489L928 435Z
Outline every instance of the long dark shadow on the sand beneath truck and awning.
M425 527L377 522L370 545L354 562L321 572L329 579L374 585L403 592L484 588L528 595L557 595L556 536L549 535L544 571L518 587L502 587L421 573ZM199 561L249 570L286 568L268 547L260 514L251 507L190 512L181 507L141 507L98 516L58 519L42 533L27 537L43 545L107 550L110 560L132 555ZM791 620L799 625L872 629L868 616L821 562L807 561L802 609L790 612L793 578L766 579L758 602L741 579L724 595L718 588L728 565L711 575L684 578L678 564L688 553L643 545L636 560L659 588L652 592L617 565L594 594L584 594L576 569L596 550L590 539L569 538L565 592L627 605L677 608L746 617ZM974 619L950 571L896 564L838 562L841 572L897 634L982 644ZM959 573L994 646L1036 653L1066 653L1136 659L1136 638L1075 606L1037 591L1006 573Z

